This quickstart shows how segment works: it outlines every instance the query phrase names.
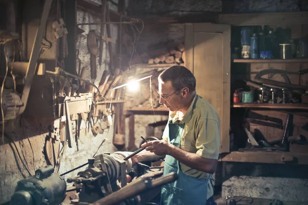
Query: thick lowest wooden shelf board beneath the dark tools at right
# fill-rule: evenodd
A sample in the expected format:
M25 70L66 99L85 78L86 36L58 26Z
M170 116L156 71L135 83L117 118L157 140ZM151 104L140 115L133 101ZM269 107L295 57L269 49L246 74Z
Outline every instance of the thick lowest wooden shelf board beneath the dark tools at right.
M291 160L290 160L291 158ZM293 160L292 160L293 158ZM288 161L284 159L289 159ZM221 155L220 161L252 162L252 163L281 163L308 165L308 154L275 151L243 151Z

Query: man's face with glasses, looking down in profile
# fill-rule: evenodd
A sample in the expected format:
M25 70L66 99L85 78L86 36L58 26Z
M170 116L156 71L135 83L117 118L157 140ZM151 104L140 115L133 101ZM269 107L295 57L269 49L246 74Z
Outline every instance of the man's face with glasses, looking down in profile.
M158 84L158 93L160 94L159 103L164 104L170 111L178 111L182 107L182 95L178 94L171 81L160 82Z

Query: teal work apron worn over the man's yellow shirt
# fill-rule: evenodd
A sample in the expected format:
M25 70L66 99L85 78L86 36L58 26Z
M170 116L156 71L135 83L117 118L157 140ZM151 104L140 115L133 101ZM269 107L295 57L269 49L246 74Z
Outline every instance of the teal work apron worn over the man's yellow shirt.
M181 135L184 124L168 123L170 144L181 148ZM161 205L192 205L206 204L207 180L184 174L180 162L170 155L166 155L164 175L176 172L179 179L162 187Z

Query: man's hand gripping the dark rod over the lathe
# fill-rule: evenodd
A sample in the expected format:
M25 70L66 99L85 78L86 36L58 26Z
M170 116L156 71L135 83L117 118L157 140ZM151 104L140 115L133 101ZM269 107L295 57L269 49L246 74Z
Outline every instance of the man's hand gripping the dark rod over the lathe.
M165 140L153 140L141 145L146 151L150 151L156 155L162 156L170 152L172 145Z

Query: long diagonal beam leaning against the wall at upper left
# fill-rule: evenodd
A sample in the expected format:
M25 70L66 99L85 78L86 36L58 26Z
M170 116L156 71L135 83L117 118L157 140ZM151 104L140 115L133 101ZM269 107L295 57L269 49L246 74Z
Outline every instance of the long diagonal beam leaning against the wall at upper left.
M32 84L32 79L33 79L33 75L35 73L35 68L36 68L35 65L37 63L38 57L40 56L40 50L41 50L40 48L42 45L43 35L45 32L47 18L49 16L49 11L50 11L52 2L53 2L52 0L46 0L44 3L42 17L41 17L40 24L38 25L36 35L34 38L34 43L33 43L30 60L28 64L28 69L27 69L27 73L25 77L24 90L23 90L22 99L21 99L23 103L23 107L21 107L21 110L18 114L23 113L27 106L27 101L28 101L28 97L29 97L29 93L31 89L31 84Z

